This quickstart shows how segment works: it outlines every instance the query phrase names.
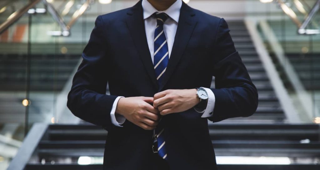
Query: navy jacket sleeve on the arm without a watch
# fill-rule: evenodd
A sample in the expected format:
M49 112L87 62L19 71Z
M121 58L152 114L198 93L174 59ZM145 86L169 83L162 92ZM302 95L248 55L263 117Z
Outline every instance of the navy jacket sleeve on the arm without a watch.
M108 130L112 125L110 111L117 96L106 95L110 68L103 32L102 17L98 16L73 77L67 106L76 117Z

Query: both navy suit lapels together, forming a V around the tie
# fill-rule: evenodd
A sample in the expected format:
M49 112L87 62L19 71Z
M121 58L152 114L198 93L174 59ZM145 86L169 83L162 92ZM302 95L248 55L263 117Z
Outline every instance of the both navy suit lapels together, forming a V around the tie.
M183 52L186 49L190 36L197 23L195 17L193 17L195 16L195 13L191 7L182 2L178 28L174 38L172 52L160 87L157 84L156 73L153 67L150 50L148 47L141 0L137 4L135 4L131 8L131 10L127 12L127 14L127 27L129 28L134 44L138 50L140 59L143 62L143 65L146 68L152 83L155 85L158 91L161 91L164 85L168 82L170 76L172 75L172 72L176 68Z

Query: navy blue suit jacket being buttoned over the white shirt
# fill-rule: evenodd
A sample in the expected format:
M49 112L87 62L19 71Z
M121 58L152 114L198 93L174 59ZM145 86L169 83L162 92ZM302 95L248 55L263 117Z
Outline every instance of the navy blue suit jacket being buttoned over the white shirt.
M258 104L256 87L234 47L223 18L183 3L172 53L157 85L143 20L141 1L131 8L100 15L84 48L83 61L68 94L68 108L81 119L108 130L104 169L152 169L152 133L125 121L111 123L117 96L148 96L166 89L210 88L215 76L218 122L252 115ZM111 95L106 95L109 84ZM216 169L208 119L194 109L162 118L171 169Z

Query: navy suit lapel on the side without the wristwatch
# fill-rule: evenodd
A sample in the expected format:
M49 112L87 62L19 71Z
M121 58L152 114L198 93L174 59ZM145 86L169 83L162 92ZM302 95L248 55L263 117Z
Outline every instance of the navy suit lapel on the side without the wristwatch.
M135 4L131 8L131 10L127 12L127 14L128 17L126 23L140 55L140 59L142 60L152 83L155 85L156 89L158 89L156 73L153 68L153 63L151 60L150 50L147 42L141 1Z

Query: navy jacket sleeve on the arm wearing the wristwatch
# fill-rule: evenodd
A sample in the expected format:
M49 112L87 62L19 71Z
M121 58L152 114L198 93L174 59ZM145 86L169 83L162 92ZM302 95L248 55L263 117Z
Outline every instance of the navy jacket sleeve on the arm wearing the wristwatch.
M236 51L227 22L221 18L214 43L215 96L212 122L251 116L258 107L258 92Z

